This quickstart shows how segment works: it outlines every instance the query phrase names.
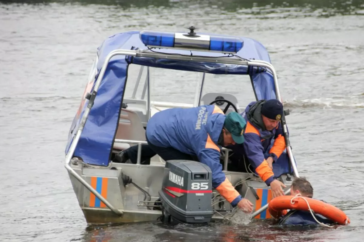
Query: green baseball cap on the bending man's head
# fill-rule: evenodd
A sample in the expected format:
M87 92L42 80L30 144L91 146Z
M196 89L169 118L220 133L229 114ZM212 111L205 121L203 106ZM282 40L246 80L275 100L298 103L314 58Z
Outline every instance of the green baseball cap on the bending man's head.
M237 144L244 143L243 133L246 126L246 121L243 117L241 117L240 114L237 112L228 113L225 118L224 126L227 131L231 133L233 140Z

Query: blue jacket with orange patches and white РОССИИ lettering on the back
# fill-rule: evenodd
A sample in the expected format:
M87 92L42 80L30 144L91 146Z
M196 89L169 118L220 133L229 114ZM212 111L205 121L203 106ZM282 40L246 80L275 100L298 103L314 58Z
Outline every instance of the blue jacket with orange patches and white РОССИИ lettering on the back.
M146 136L153 145L196 155L210 167L212 186L235 207L242 197L227 180L220 164L219 137L225 117L215 105L166 109L150 118Z

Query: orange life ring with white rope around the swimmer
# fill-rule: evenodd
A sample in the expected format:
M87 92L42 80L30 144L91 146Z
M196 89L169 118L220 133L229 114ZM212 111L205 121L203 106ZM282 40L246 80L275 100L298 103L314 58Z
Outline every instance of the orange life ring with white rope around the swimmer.
M291 199L292 203L291 203ZM350 223L348 216L337 207L320 200L305 197L314 213L321 214L340 225ZM309 211L306 201L300 197L280 196L273 198L268 205L268 210L273 218L279 218L287 213L286 209Z

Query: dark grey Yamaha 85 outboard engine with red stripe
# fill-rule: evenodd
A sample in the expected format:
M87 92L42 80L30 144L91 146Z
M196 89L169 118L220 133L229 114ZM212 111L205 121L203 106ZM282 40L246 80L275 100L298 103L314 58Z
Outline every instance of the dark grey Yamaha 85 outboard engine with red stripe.
M210 222L213 215L212 172L196 161L166 161L159 191L163 220L184 223Z

